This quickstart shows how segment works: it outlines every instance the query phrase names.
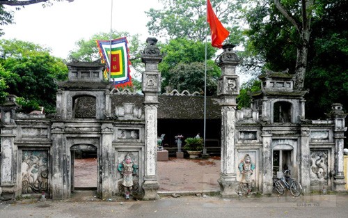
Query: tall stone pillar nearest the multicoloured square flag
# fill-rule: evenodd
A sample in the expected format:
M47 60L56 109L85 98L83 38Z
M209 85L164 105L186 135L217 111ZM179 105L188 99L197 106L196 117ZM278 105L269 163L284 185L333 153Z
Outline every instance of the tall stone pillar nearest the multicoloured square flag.
M161 91L161 75L157 70L162 56L156 46L156 38L148 38L146 47L141 54L145 63L143 72L143 93L145 95L145 175L143 182L144 200L159 198L157 190L157 107L158 94Z

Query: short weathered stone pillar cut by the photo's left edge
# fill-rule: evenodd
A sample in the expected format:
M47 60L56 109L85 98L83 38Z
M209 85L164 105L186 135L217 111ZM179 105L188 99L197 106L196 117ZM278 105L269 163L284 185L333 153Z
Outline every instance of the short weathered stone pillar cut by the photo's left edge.
M1 157L0 157L0 198L13 199L15 196L15 179L17 173L17 151L15 146L15 110L18 104L15 95L8 95L6 102L0 105L1 123ZM1 194L2 192L2 194Z

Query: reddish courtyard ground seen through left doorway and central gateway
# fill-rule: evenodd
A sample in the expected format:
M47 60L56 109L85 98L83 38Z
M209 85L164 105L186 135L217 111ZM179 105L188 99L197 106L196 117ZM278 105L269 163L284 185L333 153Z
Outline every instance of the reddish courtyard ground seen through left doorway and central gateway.
M220 157L157 162L159 192L219 191ZM97 187L97 159L74 160L75 187Z

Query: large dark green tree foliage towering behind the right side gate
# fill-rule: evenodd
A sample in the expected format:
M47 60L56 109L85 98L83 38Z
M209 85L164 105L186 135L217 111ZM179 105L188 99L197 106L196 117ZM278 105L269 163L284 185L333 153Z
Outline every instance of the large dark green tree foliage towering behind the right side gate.
M303 1L305 2L305 1ZM292 11L294 20L301 13L301 2L281 1L284 8ZM255 1L254 8L246 13L249 29L246 31L249 54L258 54L265 67L271 70L290 69L297 72L298 52L303 42L308 49L306 75L303 88L308 88L306 95L306 114L308 118L324 116L323 111L330 110L333 102L347 104L347 1L319 0L310 8L310 38L303 41L300 32L276 8L274 1ZM309 20L307 21L309 22ZM301 27L302 28L302 27ZM300 50L299 50L300 48ZM304 67L304 65L302 65ZM309 112L310 111L310 112Z

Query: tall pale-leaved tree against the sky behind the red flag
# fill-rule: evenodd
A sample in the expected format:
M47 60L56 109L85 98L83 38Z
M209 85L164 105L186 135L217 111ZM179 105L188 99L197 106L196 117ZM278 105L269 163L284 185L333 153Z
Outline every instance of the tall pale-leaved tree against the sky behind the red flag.
M204 41L209 36L207 28L207 0L160 0L164 8L150 8L146 13L150 17L149 33L153 36L187 38L193 41ZM239 23L233 22L240 15L242 1L214 0L212 7L223 25L232 32L229 41L238 44L242 40ZM231 27L232 26L232 27Z

